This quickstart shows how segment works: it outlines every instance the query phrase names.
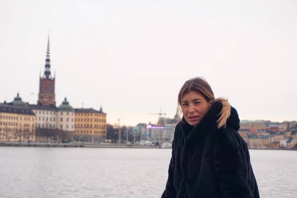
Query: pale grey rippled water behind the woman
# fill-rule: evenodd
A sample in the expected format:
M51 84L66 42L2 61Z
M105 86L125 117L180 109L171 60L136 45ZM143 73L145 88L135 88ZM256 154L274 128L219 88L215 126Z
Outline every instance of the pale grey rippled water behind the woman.
M0 198L159 198L170 149L0 148ZM297 198L297 151L250 150L261 198Z

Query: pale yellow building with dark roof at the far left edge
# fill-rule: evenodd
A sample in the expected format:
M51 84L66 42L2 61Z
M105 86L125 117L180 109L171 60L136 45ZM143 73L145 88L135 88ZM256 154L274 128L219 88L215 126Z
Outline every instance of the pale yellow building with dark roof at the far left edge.
M0 103L0 141L35 142L36 115L17 97L10 103Z

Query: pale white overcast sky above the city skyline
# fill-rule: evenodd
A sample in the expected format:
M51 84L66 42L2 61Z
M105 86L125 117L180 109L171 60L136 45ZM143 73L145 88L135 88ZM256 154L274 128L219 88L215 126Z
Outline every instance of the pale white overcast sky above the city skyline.
M0 0L1 102L37 102L48 34L57 105L110 124L173 117L196 76L241 119L297 120L295 0Z

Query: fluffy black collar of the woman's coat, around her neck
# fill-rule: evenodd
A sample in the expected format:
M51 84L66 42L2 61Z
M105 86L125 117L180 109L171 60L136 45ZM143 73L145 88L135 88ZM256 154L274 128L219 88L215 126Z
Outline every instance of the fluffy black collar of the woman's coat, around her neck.
M182 118L182 133L183 136L187 139L196 140L198 137L202 136L210 130L217 129L217 120L219 119L219 113L223 108L223 104L220 101L213 102L210 109L204 115L199 124L194 127L191 126L183 116ZM226 126L231 127L235 130L240 128L240 119L237 113L237 110L234 107L231 107L231 115L227 119ZM223 127L221 127L223 128Z

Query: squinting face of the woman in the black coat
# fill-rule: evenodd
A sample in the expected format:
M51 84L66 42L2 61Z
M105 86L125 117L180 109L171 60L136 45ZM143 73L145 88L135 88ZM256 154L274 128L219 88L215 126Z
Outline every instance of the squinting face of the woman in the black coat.
M185 94L181 101L183 115L192 126L198 125L211 104L201 93L195 91Z

